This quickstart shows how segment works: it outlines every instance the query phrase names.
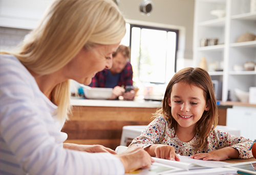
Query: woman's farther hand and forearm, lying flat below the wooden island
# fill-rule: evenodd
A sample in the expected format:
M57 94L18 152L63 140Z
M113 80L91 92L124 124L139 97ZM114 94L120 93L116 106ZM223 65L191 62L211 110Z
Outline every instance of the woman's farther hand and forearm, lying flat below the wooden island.
M79 145L74 143L63 143L63 148L85 152L110 152L111 154L116 154L114 150L102 145Z

